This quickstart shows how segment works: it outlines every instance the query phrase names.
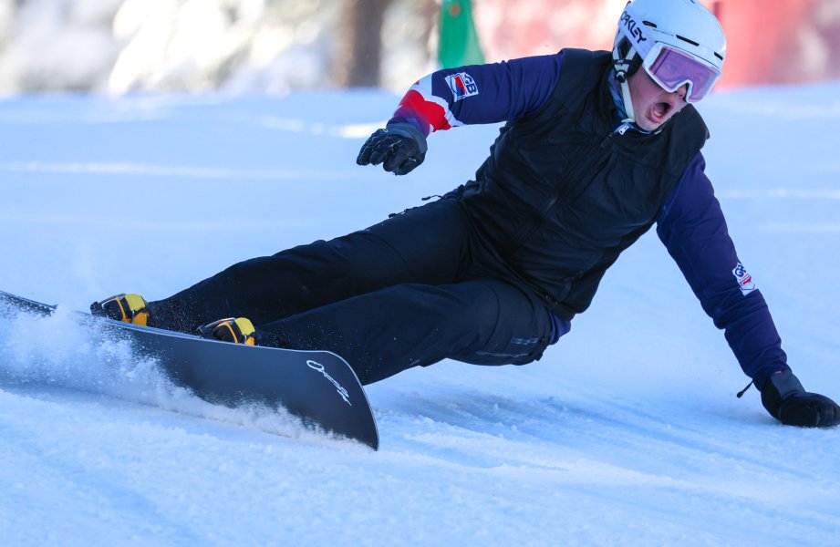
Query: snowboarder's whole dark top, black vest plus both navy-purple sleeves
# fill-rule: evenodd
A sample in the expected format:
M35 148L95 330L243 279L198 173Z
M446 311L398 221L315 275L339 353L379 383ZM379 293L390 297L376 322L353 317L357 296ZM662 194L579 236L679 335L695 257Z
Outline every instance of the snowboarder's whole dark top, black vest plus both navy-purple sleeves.
M462 202L507 270L556 315L585 310L607 267L656 222L703 309L762 386L789 367L705 175L707 129L687 106L658 134L625 131L611 83L608 52L447 68L418 80L391 122L425 135L508 122Z

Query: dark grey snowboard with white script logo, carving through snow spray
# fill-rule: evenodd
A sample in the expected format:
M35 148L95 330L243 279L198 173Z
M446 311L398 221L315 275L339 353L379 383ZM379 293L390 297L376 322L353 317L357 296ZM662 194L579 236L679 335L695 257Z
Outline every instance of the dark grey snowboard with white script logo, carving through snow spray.
M0 291L0 313L52 315L55 310L55 305ZM136 355L153 358L174 384L190 388L208 402L233 408L279 405L308 428L379 449L368 397L341 356L244 346L77 313L103 336L128 339Z

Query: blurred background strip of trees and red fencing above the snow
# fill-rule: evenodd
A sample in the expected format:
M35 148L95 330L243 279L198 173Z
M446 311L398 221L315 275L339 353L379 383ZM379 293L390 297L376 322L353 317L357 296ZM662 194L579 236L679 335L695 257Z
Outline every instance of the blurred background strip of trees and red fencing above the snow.
M441 66L608 49L625 0L0 0L0 93L400 91ZM840 0L703 0L720 86L840 78Z

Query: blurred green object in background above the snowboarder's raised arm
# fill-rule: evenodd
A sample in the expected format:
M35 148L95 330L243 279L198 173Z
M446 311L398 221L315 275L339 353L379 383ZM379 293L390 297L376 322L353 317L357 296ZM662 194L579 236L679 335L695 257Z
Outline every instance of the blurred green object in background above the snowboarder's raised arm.
M443 0L438 60L443 68L484 62L482 46L472 22L470 0Z

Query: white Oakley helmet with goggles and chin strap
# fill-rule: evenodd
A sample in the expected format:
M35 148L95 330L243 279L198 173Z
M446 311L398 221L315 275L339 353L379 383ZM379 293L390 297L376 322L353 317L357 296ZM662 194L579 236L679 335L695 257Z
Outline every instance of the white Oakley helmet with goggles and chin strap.
M688 84L686 100L697 102L721 76L725 55L721 23L697 0L628 2L613 43L627 118L633 119L633 107L626 80L638 67L668 91Z

